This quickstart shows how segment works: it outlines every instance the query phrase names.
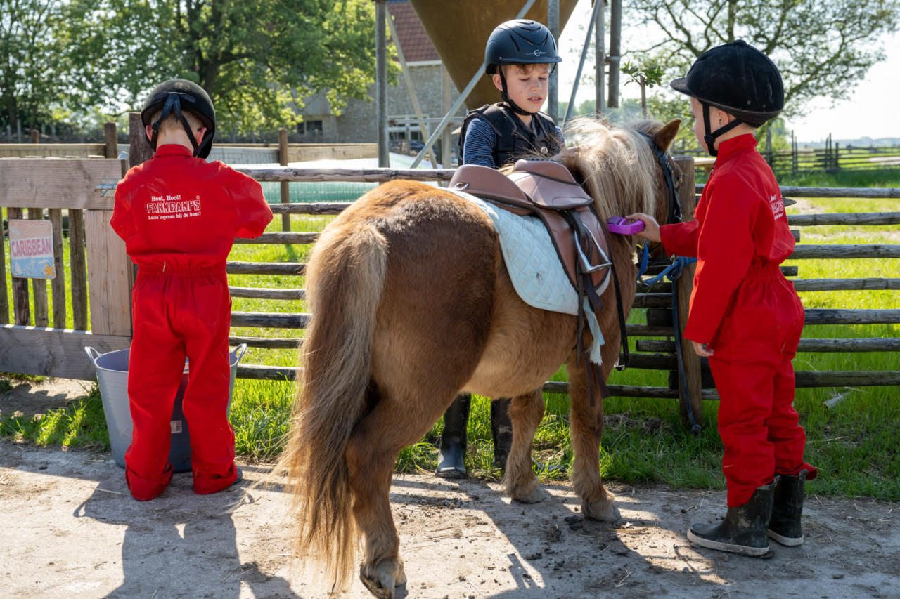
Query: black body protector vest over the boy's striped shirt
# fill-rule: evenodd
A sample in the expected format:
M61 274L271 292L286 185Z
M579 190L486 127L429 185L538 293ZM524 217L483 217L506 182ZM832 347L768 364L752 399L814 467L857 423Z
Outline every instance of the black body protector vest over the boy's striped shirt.
M549 158L562 149L553 119L544 112L531 115L531 127L518 119L505 103L485 104L465 115L459 133L459 163L465 163L463 150L465 131L473 119L482 119L494 130L494 164L498 168L514 163L518 158L542 156Z

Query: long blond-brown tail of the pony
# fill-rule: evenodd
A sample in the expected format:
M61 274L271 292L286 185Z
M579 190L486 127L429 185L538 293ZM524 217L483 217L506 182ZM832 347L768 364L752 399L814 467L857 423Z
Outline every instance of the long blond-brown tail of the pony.
M356 554L346 450L365 408L386 270L387 240L371 225L326 230L307 269L312 317L279 466L293 494L296 555L323 564L337 589L347 583Z

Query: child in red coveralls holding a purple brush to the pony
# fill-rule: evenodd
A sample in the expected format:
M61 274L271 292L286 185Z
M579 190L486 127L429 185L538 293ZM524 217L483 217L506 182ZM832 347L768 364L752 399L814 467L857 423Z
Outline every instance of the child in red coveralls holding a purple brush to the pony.
M806 434L792 405L804 311L779 264L794 238L753 137L783 108L784 89L772 61L742 40L708 50L671 86L691 96L694 132L716 165L695 220L659 227L645 214L628 218L643 220L639 235L669 254L698 258L684 336L716 380L728 512L722 523L692 525L688 538L761 556L768 537L803 542L804 480L817 474L804 461Z

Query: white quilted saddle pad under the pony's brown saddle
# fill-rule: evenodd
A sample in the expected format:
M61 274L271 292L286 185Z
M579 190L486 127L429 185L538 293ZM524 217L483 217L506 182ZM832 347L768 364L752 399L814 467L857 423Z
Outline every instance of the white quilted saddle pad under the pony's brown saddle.
M572 288L572 283L563 270L563 264L556 255L554 242L541 219L513 214L471 193L455 189L446 191L471 201L491 217L494 229L500 237L503 262L506 263L509 278L522 301L534 308L551 312L562 312L572 316L578 314L578 293ZM603 293L608 283L609 277L600 285L597 293ZM600 333L597 317L587 304L587 299L584 299L584 302L586 320L594 338L589 352L590 361L599 364L599 348L603 344L603 335Z

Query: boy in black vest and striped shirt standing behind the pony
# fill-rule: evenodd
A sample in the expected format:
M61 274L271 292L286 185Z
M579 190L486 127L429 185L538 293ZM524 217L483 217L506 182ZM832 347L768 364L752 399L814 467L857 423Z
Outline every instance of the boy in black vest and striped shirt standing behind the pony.
M527 156L554 156L563 149L563 133L539 112L548 79L561 62L553 34L539 22L500 23L484 48L485 72L500 91L501 102L466 114L459 136L460 164L500 168ZM437 476L464 478L466 425L472 396L455 398L444 415ZM512 446L509 398L491 402L494 467L503 468Z

